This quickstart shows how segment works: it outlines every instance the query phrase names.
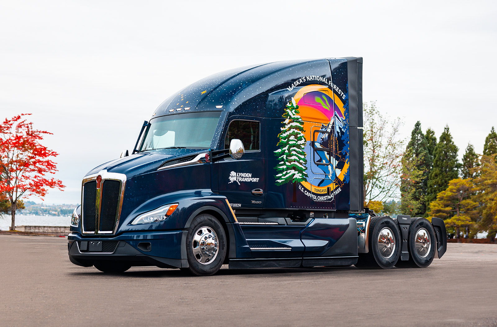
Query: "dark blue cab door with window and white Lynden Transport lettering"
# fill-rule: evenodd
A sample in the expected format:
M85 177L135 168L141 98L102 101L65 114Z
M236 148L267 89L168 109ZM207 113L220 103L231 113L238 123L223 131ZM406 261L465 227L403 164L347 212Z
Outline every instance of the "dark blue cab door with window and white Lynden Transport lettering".
M233 209L262 208L264 203L264 154L260 134L262 119L234 116L228 122L224 148L233 139L242 141L245 154L241 159L220 160L219 194L226 196Z

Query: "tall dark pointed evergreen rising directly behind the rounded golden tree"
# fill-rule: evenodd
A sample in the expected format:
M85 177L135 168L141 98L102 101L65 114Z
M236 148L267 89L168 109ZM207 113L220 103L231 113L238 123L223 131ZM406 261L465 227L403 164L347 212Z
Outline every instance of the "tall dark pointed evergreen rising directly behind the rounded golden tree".
M446 125L433 151L433 169L428 177L428 191L426 194L428 208L430 202L436 199L437 194L447 188L449 181L459 176L458 151L459 149L452 141L449 126Z

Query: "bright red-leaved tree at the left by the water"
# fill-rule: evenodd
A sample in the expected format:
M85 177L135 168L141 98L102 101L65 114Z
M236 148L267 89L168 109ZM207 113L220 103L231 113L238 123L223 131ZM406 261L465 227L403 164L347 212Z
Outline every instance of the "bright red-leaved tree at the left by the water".
M33 195L43 199L49 188L65 187L61 180L46 176L57 171L56 163L48 158L58 153L40 141L44 134L52 133L33 129L23 117L26 115L30 114L5 118L0 124L0 194L10 202L11 231L15 229L18 200Z

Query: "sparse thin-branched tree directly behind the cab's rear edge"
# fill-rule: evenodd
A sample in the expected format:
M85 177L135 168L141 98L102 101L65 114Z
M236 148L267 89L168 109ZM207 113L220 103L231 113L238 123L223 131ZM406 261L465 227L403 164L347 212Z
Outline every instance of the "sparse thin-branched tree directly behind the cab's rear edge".
M374 101L363 104L364 203L397 198L401 182L404 140L402 120L381 115Z

